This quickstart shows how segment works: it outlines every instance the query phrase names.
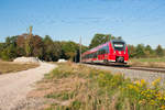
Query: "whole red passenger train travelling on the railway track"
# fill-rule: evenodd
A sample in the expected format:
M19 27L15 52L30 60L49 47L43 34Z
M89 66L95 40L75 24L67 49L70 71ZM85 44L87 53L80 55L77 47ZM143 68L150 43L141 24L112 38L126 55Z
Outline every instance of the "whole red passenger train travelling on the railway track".
M82 54L82 63L121 63L129 61L128 46L122 40L112 40Z

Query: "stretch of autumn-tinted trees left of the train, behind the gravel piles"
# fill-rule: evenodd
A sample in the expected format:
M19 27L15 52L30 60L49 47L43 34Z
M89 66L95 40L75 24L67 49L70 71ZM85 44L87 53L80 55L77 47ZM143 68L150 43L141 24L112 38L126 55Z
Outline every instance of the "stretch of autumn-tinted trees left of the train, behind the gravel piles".
M82 52L87 51L82 45ZM53 41L51 36L45 35L15 35L6 38L0 43L0 58L12 61L15 57L33 56L46 62L56 62L59 58L75 59L79 52L79 44L73 41Z

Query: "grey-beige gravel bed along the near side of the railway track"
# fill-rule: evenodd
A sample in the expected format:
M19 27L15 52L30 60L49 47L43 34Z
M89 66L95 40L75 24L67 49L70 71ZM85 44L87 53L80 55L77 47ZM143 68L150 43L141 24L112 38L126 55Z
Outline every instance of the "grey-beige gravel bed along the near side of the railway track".
M95 67L98 69L106 69L111 70L112 74L121 73L127 78L131 79L145 79L148 84L157 78L162 78L162 85L165 81L165 73L154 73L154 72L145 72L145 70L134 70L134 69L127 69L127 68L114 68L111 66L102 66L102 65L88 65L90 67Z

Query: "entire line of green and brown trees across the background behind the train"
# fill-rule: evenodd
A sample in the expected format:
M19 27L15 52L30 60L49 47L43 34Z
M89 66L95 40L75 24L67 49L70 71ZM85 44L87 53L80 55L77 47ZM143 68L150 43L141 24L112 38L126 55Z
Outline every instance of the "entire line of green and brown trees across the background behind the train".
M103 44L110 40L122 40L121 36L111 34L94 35L89 46L82 45L82 53L87 50ZM128 45L130 57L163 57L165 51L161 45L153 50L150 45L139 44ZM6 38L4 43L0 43L0 58L12 61L15 57L33 56L46 62L56 62L59 58L79 62L79 44L73 41L53 41L51 36L22 34Z

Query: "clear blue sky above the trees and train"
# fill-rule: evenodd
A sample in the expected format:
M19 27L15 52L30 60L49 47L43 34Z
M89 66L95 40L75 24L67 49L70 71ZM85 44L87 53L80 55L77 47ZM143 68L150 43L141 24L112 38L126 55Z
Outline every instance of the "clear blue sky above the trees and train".
M0 42L26 33L89 45L96 33L165 47L165 0L0 0Z

